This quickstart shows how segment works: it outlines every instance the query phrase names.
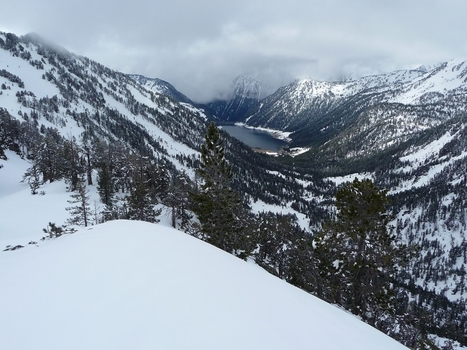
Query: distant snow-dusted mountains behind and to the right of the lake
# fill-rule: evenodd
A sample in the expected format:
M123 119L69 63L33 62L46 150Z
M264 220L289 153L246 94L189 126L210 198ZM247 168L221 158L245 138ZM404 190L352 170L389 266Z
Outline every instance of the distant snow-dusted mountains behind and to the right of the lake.
M243 81L230 101L210 104L223 107L214 112L220 120L290 132L291 147L330 164L394 153L462 117L467 106L463 61L341 82L298 80L262 99L259 82Z

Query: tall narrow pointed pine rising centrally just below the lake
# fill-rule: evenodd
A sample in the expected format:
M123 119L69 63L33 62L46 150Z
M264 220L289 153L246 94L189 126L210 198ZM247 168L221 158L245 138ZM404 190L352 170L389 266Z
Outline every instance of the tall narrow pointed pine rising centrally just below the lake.
M245 256L251 248L245 235L248 215L240 196L230 188L232 170L227 165L223 140L213 122L201 146L197 173L203 183L191 197L202 237L229 253Z

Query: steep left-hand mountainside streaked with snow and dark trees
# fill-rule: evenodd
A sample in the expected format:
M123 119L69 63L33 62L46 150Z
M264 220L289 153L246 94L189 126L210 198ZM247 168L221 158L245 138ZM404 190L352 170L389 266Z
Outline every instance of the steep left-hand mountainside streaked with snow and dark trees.
M0 33L0 67L0 107L22 122L57 128L68 138L80 139L91 131L106 140L122 139L117 134L127 123L123 141L170 154L173 162L176 154L192 154L187 145L193 148L204 134L201 110L34 35ZM139 140L131 141L136 129Z

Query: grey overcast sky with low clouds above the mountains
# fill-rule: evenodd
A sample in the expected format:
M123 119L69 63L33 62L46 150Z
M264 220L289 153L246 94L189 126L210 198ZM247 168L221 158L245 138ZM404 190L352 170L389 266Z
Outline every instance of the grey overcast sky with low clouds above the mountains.
M204 102L240 74L270 90L467 60L466 14L466 0L8 0L0 31L36 32Z

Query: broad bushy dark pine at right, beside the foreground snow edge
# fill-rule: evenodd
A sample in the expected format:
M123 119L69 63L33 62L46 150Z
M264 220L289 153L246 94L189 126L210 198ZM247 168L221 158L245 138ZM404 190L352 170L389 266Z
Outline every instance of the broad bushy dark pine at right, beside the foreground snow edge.
M396 267L406 259L388 227L386 191L355 179L336 194L336 217L314 239L320 293L372 323L394 309Z

